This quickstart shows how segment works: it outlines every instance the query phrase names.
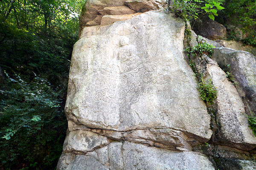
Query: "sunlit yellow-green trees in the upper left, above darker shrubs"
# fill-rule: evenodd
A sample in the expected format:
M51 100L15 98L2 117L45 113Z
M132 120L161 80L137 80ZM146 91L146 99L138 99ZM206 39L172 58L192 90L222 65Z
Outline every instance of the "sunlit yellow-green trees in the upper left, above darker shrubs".
M35 72L54 85L62 84L58 80L68 78L63 73L68 73L73 44L78 40L81 8L74 2L0 1L1 68L28 77Z

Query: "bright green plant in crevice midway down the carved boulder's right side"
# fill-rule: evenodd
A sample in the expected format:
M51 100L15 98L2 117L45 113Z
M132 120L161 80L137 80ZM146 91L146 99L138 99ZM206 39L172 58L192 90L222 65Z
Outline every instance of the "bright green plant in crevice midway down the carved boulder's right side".
M214 99L217 97L217 91L212 85L212 80L209 79L208 82L205 82L201 77L201 82L198 86L198 91L200 93L200 98L207 102L209 105L213 104Z

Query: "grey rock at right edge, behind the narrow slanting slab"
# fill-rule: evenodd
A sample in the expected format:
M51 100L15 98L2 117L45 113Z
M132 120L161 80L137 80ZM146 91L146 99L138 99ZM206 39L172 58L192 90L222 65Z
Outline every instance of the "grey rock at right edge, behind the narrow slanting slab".
M212 59L223 69L230 65L230 72L235 76L247 113L256 113L256 57L245 51L215 48Z

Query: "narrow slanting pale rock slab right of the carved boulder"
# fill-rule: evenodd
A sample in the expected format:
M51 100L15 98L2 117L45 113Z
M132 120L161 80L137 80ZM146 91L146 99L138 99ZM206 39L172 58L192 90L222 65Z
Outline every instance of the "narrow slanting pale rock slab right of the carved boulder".
M256 148L256 137L248 127L244 103L232 82L228 81L226 73L207 56L194 61L198 73L203 74L205 81L211 79L218 92L215 101L218 131L213 142L242 150Z

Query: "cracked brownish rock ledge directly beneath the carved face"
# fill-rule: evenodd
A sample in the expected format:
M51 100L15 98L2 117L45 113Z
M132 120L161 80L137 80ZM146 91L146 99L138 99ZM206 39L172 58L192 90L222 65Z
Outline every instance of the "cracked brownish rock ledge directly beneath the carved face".
M83 152L88 151L84 149L83 146L78 148L77 144L83 142L89 150L95 150L95 148L102 147L105 144L108 144L112 140L115 141L129 141L137 144L144 144L147 146L154 146L159 148L164 148L168 150L191 150L192 146L195 146L200 143L207 142L209 139L201 139L200 136L196 136L192 133L182 132L180 130L175 130L172 128L159 128L159 129L135 129L130 131L115 131L115 130L102 130L102 129L91 129L85 127L84 125L77 125L74 122L69 121L69 130L72 132L68 137L68 147L67 150L80 150ZM82 133L82 134L81 134ZM89 136L88 136L89 133ZM94 135L92 135L92 133ZM102 144L102 142L96 142L96 139L99 139L105 136L107 139L104 139L108 142ZM70 137L72 136L72 137ZM87 141L79 141L77 137L74 136L84 136L84 138L89 138ZM91 137L94 136L94 137ZM95 145L95 146L93 146Z

